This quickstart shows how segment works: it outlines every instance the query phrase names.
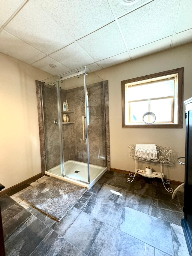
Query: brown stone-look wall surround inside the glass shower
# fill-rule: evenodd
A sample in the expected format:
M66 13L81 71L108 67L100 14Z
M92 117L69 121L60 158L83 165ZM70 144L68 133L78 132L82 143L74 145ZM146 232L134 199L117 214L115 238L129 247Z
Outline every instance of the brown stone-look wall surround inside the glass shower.
M56 88L53 86L46 86L42 89L42 92L44 102L47 170L49 170L60 164L59 129L58 126L53 124L53 121L58 119ZM62 124L64 161L70 159L87 162L86 140L83 140L82 136L82 116L85 115L84 86L66 91L61 89L60 92L61 111L62 103L66 101L66 99L69 103L69 110L74 111L73 113L68 113L69 122L74 123ZM106 166L107 149L107 165L109 166L109 138L107 140L107 147L105 143L105 130L109 137L109 116L108 110L104 113L103 102L105 96L105 105L108 107L108 81L105 81L105 93L103 82L88 85L87 92L89 102L88 135L90 164ZM106 120L104 118L105 115Z

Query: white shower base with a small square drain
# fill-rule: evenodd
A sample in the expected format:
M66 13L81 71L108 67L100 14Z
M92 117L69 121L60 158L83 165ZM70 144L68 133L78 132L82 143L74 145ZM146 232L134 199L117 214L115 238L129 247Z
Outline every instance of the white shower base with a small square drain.
M91 188L98 179L107 171L107 167L102 167L94 164L89 165L90 184L88 183L88 170L87 164L68 160L64 162L65 176L61 176L61 164L46 171L47 175L53 176L58 179L62 179L82 187ZM75 173L75 171L79 171Z

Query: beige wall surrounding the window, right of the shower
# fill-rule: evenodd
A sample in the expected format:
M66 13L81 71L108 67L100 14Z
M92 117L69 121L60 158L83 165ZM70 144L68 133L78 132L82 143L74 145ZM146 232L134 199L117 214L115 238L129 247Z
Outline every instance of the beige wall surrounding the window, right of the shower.
M184 181L184 166L176 158L185 154L185 120L182 129L136 129L122 128L121 81L184 67L184 100L192 97L192 44L125 62L97 71L104 80L109 80L110 153L111 167L133 171L134 160L129 158L128 145L155 143L173 148L174 164L163 167L164 174L172 180ZM139 166L145 167L143 162ZM152 165L159 171L159 165Z

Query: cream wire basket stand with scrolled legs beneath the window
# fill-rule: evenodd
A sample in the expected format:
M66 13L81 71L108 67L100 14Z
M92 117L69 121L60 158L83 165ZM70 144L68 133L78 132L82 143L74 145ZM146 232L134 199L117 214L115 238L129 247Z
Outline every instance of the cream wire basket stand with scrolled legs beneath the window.
M163 147L163 146L157 146L157 150L153 149L143 149L143 148L136 148L135 145L128 145L129 146L129 156L135 160L135 173L129 173L129 176L133 178L132 180L130 178L127 179L127 182L132 182L135 178L136 173L139 173L142 176L145 176L147 178L161 178L164 188L170 192L173 193L172 188L166 188L165 184L170 184L170 180L167 179L164 181L164 174L162 173L162 164L163 163L169 163L171 160L171 153L172 150L169 147ZM160 172L152 172L152 174L146 174L144 173L144 170L137 169L137 160L139 161L151 161L151 162L157 162L160 163Z

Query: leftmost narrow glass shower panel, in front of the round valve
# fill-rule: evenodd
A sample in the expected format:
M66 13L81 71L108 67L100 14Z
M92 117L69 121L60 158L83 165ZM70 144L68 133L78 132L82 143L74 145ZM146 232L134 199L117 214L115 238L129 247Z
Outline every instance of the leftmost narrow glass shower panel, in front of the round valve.
M58 115L58 95L60 93L58 91L58 76L51 77L42 82L41 95L44 114L46 169L50 173L63 176L60 117Z

